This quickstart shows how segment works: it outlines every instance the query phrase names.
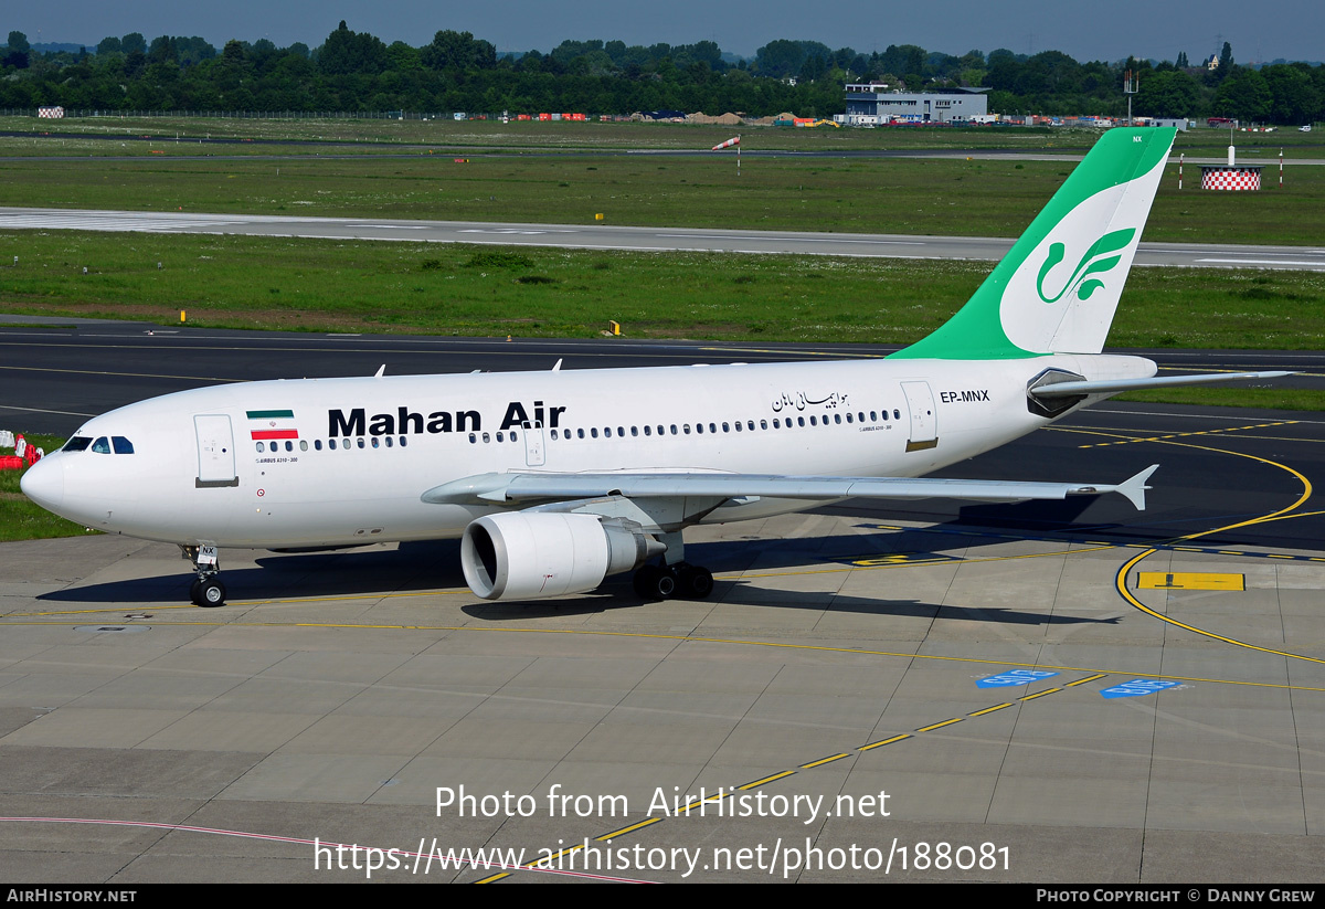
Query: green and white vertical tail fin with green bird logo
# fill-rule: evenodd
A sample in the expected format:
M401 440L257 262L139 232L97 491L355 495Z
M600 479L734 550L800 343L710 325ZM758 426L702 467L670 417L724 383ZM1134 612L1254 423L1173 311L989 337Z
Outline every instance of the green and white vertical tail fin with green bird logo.
M1177 130L1114 129L967 303L901 359L1098 354Z

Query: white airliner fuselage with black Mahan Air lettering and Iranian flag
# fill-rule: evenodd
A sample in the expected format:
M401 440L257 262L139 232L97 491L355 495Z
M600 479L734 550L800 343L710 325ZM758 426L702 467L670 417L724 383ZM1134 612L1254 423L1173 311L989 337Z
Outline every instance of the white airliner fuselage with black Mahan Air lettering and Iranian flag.
M1140 358L1059 354L253 382L98 416L76 436L132 453L61 451L24 489L89 527L183 545L452 538L505 509L420 496L484 473L918 477L1049 423L1026 390L1051 366L1154 374ZM733 500L705 521L812 505Z

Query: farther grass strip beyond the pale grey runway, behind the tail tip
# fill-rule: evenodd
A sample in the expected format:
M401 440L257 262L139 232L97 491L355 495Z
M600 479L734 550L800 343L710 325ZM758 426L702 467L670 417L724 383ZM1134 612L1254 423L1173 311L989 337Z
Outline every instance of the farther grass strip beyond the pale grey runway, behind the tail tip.
M931 159L450 156L0 160L3 204L423 220L1018 236L1073 164ZM1202 192L1170 166L1146 239L1314 244L1325 167L1287 188ZM1275 182L1267 171L1267 182ZM3 250L0 250L3 254Z

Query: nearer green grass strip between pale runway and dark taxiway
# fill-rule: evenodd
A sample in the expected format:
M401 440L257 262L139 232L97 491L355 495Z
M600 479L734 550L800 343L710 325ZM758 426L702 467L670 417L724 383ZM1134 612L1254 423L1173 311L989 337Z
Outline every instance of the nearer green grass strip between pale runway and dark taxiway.
M909 343L991 265L505 250L272 237L0 233L0 307L245 329ZM162 269L156 264L162 264ZM87 274L82 273L83 266ZM1117 347L1325 347L1325 274L1136 269Z

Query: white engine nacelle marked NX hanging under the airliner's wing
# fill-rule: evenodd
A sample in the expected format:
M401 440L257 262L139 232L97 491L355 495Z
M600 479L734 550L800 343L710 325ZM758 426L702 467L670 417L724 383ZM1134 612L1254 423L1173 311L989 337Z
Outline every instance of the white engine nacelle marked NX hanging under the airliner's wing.
M584 594L665 547L623 518L560 511L490 514L465 527L460 563L485 600Z

